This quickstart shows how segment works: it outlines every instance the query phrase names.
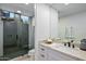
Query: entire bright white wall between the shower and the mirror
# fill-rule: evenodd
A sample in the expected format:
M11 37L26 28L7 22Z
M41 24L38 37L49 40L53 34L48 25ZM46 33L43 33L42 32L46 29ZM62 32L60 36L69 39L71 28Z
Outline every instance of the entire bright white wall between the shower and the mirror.
M36 4L35 18L35 59L38 60L38 42L58 37L58 12L46 4Z

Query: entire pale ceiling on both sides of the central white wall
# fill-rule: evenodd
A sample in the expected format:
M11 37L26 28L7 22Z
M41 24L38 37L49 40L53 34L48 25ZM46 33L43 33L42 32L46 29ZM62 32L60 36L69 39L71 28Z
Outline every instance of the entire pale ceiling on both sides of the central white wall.
M65 5L64 3L47 3L59 12L59 17L86 12L86 3L70 3ZM34 3L0 3L0 9L9 11L21 11L22 14L27 16L34 16Z

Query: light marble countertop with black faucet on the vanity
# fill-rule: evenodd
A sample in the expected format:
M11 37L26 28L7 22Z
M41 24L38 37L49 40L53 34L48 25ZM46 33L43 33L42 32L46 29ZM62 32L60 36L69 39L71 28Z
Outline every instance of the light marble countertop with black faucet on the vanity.
M51 44L41 42L40 44L44 47L50 48L52 50L62 52L64 54L67 54L70 56L77 57L81 61L86 61L86 51L79 50L79 48L77 48L77 47L70 48L70 47L65 47L63 43L56 43L56 42L53 42Z

